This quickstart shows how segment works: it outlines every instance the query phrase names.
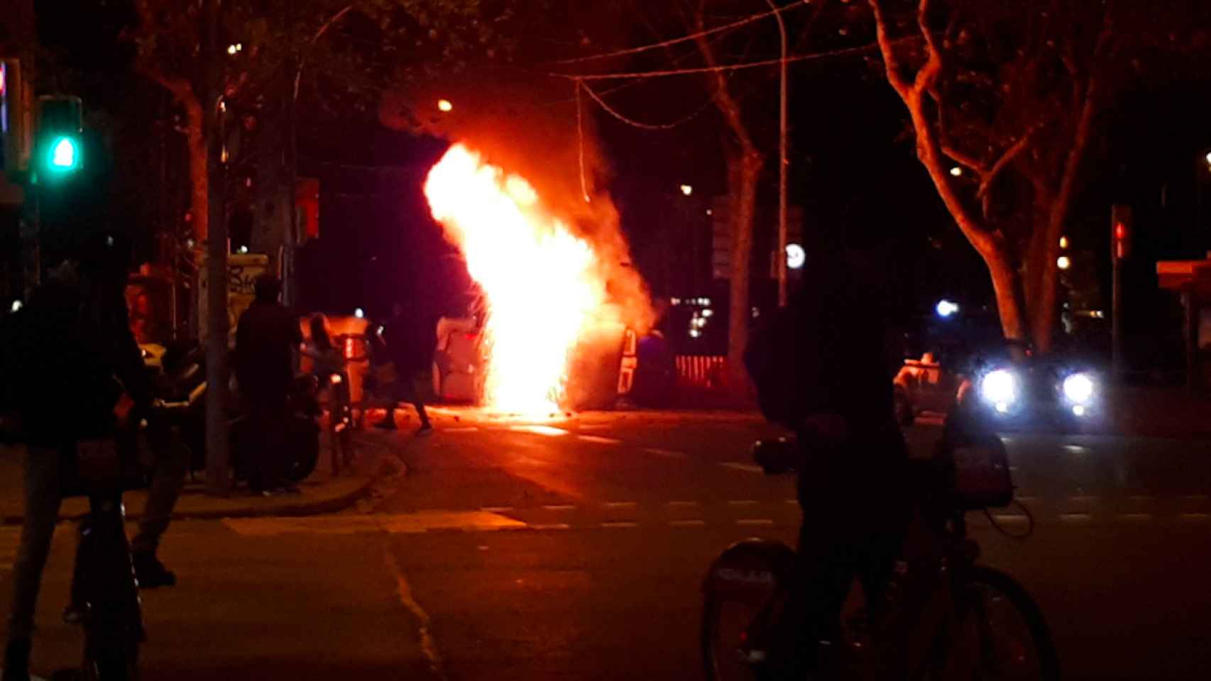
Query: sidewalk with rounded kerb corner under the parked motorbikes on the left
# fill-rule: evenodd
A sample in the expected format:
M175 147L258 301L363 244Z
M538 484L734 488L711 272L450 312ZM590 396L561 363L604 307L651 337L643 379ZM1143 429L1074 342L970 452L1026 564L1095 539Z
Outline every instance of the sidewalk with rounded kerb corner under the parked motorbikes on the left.
M299 485L300 494L276 495L264 497L253 495L246 489L233 490L228 496L206 494L205 471L196 473L197 479L185 479L185 489L173 518L247 518L256 515L312 515L332 513L352 506L366 496L384 466L384 458L390 456L386 442L374 433L356 433L357 460L352 468L342 471L334 478L329 466L327 442L321 443L320 463L315 473ZM5 525L19 525L24 509L22 500L22 471L19 446L0 445L0 518ZM126 510L128 519L138 519L147 503L147 492L136 490L126 492ZM59 512L61 519L73 519L84 515L88 509L85 498L64 500Z

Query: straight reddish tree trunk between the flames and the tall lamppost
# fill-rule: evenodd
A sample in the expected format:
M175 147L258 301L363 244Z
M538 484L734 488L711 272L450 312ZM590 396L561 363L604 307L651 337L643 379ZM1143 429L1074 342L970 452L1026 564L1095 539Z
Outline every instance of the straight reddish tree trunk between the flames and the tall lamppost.
M747 394L748 379L744 367L748 346L748 284L753 252L753 218L757 204L757 180L762 155L744 149L728 160L731 192L731 281L728 314L728 381L737 394Z

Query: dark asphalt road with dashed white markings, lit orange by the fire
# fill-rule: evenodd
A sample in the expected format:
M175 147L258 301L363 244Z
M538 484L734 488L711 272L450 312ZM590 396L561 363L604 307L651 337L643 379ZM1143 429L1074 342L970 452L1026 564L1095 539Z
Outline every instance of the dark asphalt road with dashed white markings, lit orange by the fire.
M936 432L909 439L925 450ZM796 535L793 480L747 461L773 433L691 414L401 433L409 475L372 515L177 525L163 555L182 583L144 599L147 677L700 679L711 559ZM1066 677L1205 679L1211 444L1008 444L1035 532L1016 542L976 519L974 535L1043 607ZM995 513L1023 525L1018 509ZM76 654L78 633L56 622L69 553L61 530L39 670Z

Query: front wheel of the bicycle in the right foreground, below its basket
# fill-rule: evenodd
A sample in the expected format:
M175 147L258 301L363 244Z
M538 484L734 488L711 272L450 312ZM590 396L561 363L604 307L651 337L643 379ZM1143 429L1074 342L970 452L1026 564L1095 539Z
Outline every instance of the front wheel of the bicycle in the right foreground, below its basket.
M1043 612L1012 577L977 566L954 599L957 617L928 679L1058 681L1060 657Z

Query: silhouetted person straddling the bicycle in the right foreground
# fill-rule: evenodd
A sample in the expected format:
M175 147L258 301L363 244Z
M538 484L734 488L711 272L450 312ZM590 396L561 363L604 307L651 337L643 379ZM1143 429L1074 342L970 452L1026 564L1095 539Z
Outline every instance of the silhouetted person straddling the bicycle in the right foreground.
M906 449L890 334L868 275L839 254L814 259L802 290L745 354L762 410L799 440L790 462L803 508L797 575L765 644L769 663L758 671L767 679L802 681L817 668L854 578L877 604L899 548Z

